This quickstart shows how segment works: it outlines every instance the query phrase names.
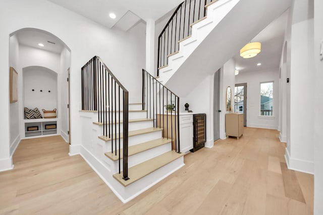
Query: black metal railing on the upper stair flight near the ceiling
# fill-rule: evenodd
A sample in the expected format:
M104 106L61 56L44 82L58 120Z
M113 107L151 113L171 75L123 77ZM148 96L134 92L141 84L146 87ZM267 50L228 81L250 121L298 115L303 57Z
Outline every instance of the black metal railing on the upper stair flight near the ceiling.
M217 0L185 0L158 36L157 76L168 65L168 56L179 51L179 41L191 35L191 25L206 16L206 7Z

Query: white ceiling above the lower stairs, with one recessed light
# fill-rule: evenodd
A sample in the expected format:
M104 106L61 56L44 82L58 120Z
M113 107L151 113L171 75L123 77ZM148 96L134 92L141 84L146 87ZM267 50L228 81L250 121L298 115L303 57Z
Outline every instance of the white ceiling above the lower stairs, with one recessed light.
M157 20L175 7L183 0L48 0L52 3L69 9L81 16L97 22L105 27L112 28L118 21L128 18L126 13L131 11L138 19ZM110 13L116 14L116 19L109 17ZM132 26L138 20L127 19L122 21L126 26ZM131 25L132 24L132 25ZM124 29L125 27L119 28ZM128 28L129 29L129 28Z

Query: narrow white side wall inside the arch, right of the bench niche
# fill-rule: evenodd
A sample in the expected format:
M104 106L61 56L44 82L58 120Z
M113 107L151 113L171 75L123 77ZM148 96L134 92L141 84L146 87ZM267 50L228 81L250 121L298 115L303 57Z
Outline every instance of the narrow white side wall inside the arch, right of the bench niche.
M59 74L59 83L61 83L61 94L60 94L60 117L61 117L61 135L68 141L68 130L69 130L69 116L68 116L68 68L71 64L71 52L64 48L61 53L61 73Z

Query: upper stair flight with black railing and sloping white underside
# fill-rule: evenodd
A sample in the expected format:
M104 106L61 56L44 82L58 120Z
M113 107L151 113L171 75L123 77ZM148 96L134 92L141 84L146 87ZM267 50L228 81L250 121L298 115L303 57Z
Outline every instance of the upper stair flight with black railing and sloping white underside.
M158 37L158 80L180 96L186 96L193 86L224 65L265 26L286 11L292 1L198 2L183 2ZM201 16L203 9L199 7L206 9L205 16ZM193 18L185 19L192 16L192 12ZM185 80L185 86L178 85L182 80Z

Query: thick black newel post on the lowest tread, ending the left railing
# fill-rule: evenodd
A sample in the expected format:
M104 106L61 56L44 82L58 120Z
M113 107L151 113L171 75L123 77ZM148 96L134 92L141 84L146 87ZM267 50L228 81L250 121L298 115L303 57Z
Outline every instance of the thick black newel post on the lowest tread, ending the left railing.
M123 92L123 179L128 177L128 122L129 122L129 93ZM119 157L120 159L120 157Z

